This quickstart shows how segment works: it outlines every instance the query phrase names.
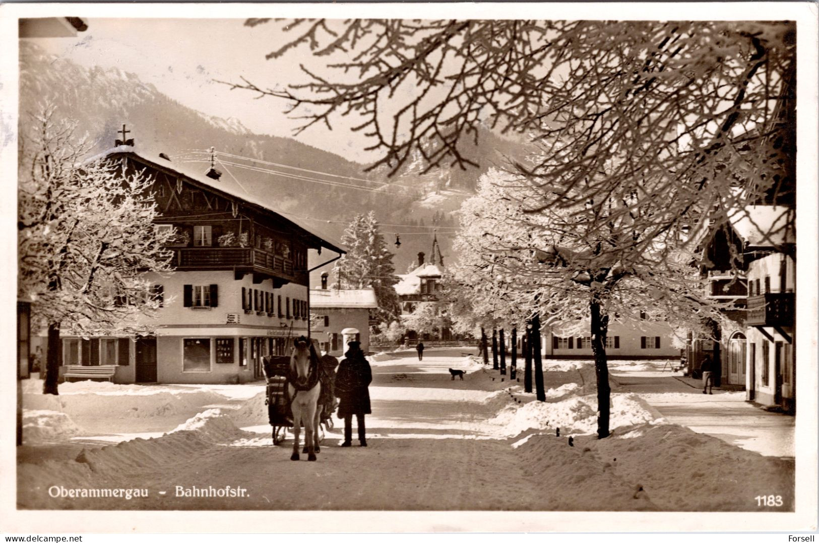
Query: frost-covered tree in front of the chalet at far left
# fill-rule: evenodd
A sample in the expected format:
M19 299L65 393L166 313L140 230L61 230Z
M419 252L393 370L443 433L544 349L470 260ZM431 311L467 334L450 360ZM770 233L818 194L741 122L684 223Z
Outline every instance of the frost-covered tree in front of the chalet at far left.
M161 303L145 272L170 271L171 233L153 226L151 183L82 162L75 123L52 107L20 129L17 294L48 328L43 393L57 394L61 329L80 336L152 333Z

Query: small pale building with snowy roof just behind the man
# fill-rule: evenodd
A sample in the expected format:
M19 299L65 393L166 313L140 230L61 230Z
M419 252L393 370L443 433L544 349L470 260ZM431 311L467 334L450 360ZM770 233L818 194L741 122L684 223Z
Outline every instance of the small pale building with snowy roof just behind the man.
M378 307L372 288L337 289L327 287L322 275L322 287L310 289L310 334L328 355L341 356L346 351L342 331L358 328L356 340L361 349L369 351L369 310Z

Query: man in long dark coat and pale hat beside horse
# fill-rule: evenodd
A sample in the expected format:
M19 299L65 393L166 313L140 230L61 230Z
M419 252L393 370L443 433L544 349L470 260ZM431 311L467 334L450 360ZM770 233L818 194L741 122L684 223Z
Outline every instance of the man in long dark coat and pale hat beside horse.
M342 447L349 447L353 441L352 419L358 422L359 441L362 447L367 446L364 415L372 413L369 406L369 383L373 381L373 371L369 362L364 358L360 342L349 342L344 353L345 359L338 364L336 374L336 396L338 404L338 418L344 419L344 442Z

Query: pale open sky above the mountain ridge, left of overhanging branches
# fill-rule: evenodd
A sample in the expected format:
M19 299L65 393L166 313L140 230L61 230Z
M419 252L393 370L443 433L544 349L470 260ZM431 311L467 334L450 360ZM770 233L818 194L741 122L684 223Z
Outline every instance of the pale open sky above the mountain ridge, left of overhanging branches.
M120 68L154 84L185 106L228 119L235 117L255 133L292 136L297 121L283 113L286 102L274 97L229 89L215 79L240 81L244 76L263 88L283 88L304 81L300 63L314 65L307 48L277 60L265 55L289 37L273 23L255 28L244 19L94 19L76 38L31 40L46 51L82 66ZM345 156L372 161L359 135L342 120L333 131L316 126L297 139Z

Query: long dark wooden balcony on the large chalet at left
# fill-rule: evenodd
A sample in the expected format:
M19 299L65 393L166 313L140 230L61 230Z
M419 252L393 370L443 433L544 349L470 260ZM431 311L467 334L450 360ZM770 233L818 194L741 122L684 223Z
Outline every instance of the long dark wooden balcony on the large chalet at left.
M305 286L310 280L305 272L293 269L291 260L253 247L184 247L174 251L174 266L180 271L229 269Z

